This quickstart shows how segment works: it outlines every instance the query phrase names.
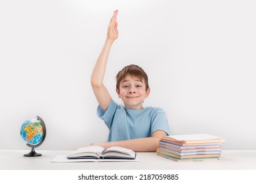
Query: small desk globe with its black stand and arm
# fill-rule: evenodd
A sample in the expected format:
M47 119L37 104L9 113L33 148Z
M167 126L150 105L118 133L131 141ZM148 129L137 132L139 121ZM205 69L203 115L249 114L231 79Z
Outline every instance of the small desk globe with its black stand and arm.
M35 152L35 148L41 146L43 141L45 141L46 127L42 118L37 116L37 119L27 120L24 122L20 128L20 136L25 142L27 142L27 146L32 148L30 153L24 154L24 156L42 156L42 154Z

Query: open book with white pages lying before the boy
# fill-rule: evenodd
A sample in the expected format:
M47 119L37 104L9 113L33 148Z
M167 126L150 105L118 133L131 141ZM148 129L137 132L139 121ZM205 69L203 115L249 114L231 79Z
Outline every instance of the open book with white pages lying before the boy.
M68 159L135 159L136 153L133 150L112 146L104 149L101 146L87 146L78 148Z

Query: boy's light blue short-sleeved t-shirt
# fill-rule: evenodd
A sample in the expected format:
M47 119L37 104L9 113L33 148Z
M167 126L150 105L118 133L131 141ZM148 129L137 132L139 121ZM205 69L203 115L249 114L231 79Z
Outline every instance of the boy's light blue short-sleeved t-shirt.
M161 108L145 107L142 110L133 110L117 105L112 100L105 112L98 105L97 115L110 129L109 142L151 137L157 130L170 134L166 114Z

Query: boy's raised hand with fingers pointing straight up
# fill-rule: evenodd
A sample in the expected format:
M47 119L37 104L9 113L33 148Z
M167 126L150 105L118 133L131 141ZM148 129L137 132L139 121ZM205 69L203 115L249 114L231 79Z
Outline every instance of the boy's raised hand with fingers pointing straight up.
M109 41L115 41L118 37L117 22L116 22L117 13L118 13L118 10L115 10L110 20L110 24L108 25L107 40Z

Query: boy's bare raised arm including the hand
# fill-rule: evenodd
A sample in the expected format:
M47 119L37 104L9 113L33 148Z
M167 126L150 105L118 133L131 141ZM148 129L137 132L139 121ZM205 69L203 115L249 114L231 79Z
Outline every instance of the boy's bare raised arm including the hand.
M108 108L111 102L111 96L103 84L103 78L106 70L106 64L108 61L108 55L110 53L110 48L113 42L118 37L117 22L116 22L117 13L118 13L118 10L115 10L110 20L110 24L108 25L108 33L107 33L106 41L95 63L93 73L91 74L91 86L93 88L93 92L95 93L95 97L98 101L98 104L104 111L106 111L106 109Z

